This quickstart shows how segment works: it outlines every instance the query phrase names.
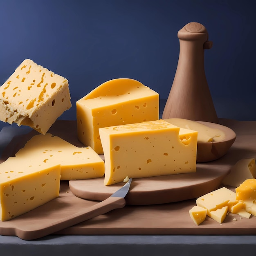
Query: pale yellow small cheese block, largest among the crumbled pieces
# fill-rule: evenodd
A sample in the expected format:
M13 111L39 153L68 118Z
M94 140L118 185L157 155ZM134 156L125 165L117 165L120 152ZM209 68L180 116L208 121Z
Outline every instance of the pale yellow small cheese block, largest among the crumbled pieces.
M231 211L231 207L239 203L239 201L236 200L236 193L225 187L202 195L196 199L195 202L196 205L207 209L208 216L211 211L222 209L222 207L225 206L229 207L229 211Z

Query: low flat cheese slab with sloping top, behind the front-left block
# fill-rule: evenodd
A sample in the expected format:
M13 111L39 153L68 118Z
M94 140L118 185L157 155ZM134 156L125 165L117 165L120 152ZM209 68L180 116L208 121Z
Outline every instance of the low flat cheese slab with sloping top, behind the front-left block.
M61 165L61 180L83 180L102 177L103 159L90 147L76 147L50 133L35 135L21 148L16 157Z

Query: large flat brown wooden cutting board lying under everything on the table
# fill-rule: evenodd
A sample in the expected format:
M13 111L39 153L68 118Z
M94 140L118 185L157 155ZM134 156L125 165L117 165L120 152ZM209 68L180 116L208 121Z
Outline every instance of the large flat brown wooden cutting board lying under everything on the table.
M68 122L61 121L56 126L67 125ZM70 124L74 124L71 121ZM222 124L229 126L237 134L237 139L230 148L227 155L222 160L222 164L233 165L241 158L256 156L256 121L234 121L222 120ZM54 134L53 127L51 133ZM33 134L34 131L32 132ZM54 134L58 135L58 134ZM16 137L4 151L3 157L13 154L28 137L22 136L22 139ZM58 135L60 136L60 135ZM76 132L63 132L63 138L70 141L76 136ZM26 138L25 138L26 137ZM61 137L61 136L60 136ZM76 141L76 143L78 143ZM78 143L79 144L79 143ZM14 147L13 147L14 146ZM4 159L4 158L3 158ZM220 167L222 166L220 163ZM134 180L136 182L136 180ZM79 211L81 207L89 207L97 204L97 201L84 200L76 197L70 190L67 182L61 182L60 197L44 204L29 213L25 213L13 220L0 222L0 234L7 236L18 235L17 230L37 234L47 225L51 225L54 220L70 216L73 212ZM256 217L250 219L240 218L238 215L229 214L221 225L207 217L199 226L195 225L189 217L189 209L195 205L195 199L183 200L181 202L171 202L156 205L126 205L123 209L116 209L104 215L92 218L78 225L63 229L55 234L72 235L115 235L115 234L204 234L204 235L255 235Z

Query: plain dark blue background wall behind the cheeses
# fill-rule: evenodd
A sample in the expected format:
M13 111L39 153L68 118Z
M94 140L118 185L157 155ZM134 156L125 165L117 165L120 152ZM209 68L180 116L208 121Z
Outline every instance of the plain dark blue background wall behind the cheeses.
M177 31L195 21L213 41L204 59L218 116L256 120L253 3L0 0L0 84L31 58L65 76L72 99L120 77L167 98L179 58Z

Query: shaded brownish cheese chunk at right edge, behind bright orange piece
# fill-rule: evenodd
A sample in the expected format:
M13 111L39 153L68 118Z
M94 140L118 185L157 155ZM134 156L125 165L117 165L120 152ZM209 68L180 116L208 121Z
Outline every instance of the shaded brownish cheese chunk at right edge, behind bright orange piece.
M238 187L245 180L252 178L256 178L255 159L240 159L232 166L230 173L222 180L222 184Z

